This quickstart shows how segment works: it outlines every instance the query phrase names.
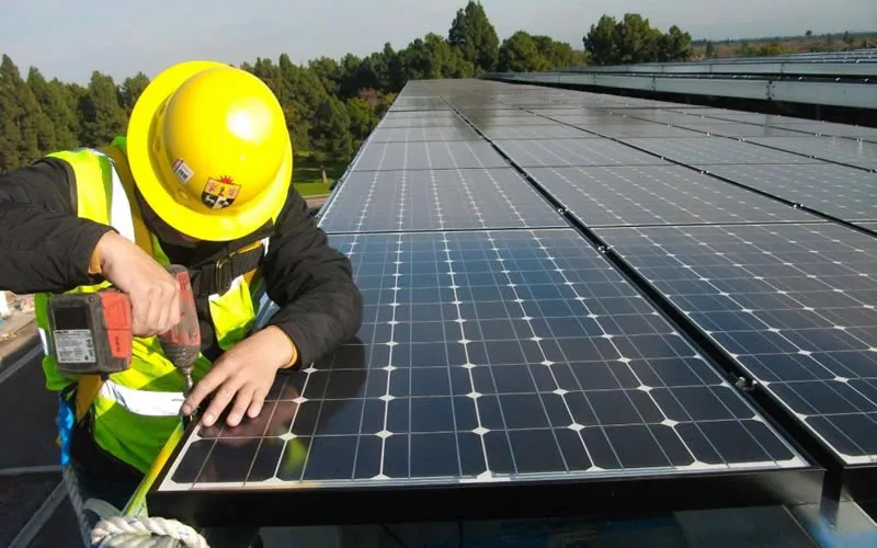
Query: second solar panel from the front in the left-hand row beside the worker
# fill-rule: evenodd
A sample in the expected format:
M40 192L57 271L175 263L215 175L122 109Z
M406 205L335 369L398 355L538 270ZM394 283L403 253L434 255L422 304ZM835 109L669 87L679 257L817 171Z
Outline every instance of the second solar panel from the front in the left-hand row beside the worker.
M320 217L327 232L568 226L511 168L354 171Z

